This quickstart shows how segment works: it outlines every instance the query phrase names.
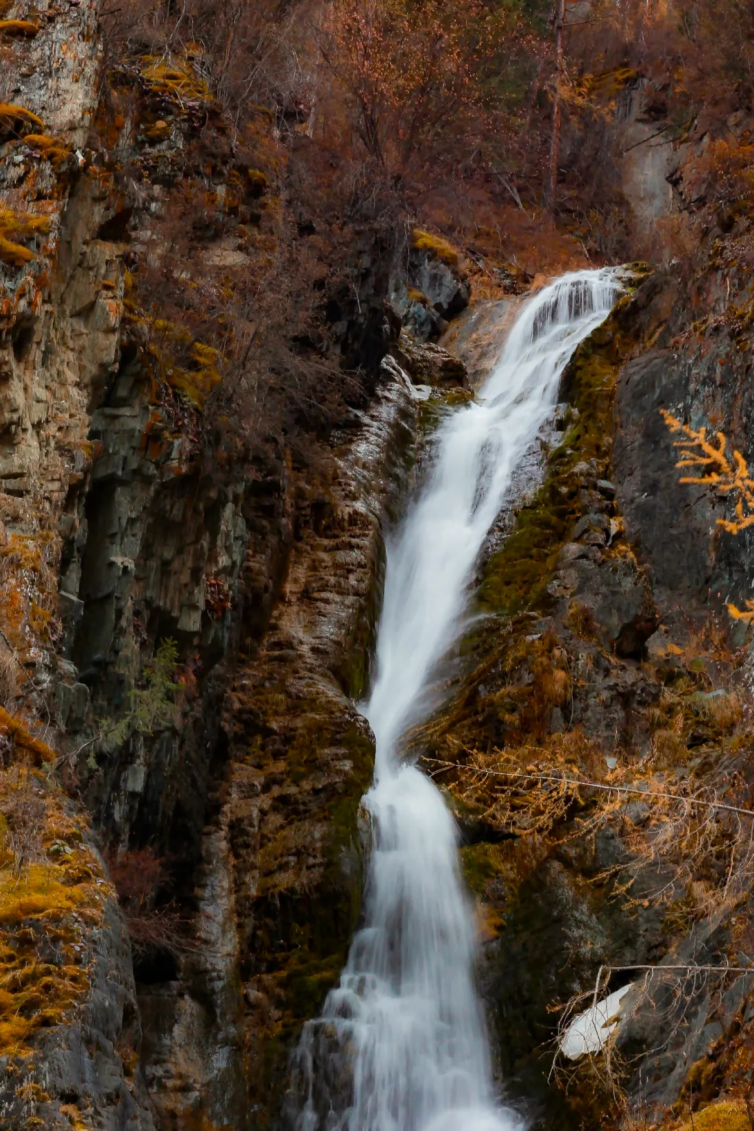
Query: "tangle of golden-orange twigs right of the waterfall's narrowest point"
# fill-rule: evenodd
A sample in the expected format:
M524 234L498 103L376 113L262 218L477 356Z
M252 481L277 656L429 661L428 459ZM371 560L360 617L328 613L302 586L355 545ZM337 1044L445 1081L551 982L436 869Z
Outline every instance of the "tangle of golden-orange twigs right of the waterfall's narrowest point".
M667 789L652 777L626 782L621 770L612 780L595 780L567 766L540 769L513 761L531 752L470 751L465 763L426 761L432 776L453 775L453 793L505 832L563 843L607 824L619 828L625 852L598 879L612 880L629 906L676 900L693 921L730 909L754 884L754 811L692 779ZM726 787L746 784L735 775Z

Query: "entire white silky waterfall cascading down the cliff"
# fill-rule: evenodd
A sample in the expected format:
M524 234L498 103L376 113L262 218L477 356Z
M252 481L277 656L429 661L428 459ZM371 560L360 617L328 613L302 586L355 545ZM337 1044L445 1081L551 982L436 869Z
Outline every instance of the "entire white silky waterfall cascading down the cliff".
M493 1086L458 830L439 789L401 759L400 737L432 709L433 673L463 630L474 566L517 463L618 292L615 270L578 271L525 305L477 402L442 425L428 482L388 545L376 681L363 707L376 737L364 926L304 1028L297 1131L519 1123Z

